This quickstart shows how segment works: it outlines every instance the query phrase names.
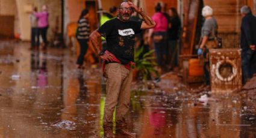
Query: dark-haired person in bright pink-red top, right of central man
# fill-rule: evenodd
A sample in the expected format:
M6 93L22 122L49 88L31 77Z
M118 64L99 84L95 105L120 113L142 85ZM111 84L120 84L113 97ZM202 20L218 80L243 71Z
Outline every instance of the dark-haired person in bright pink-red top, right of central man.
M155 55L157 56L157 64L162 68L166 59L166 47L167 47L167 29L168 20L164 13L161 12L161 5L158 3L155 6L155 14L152 19L157 25L149 30L149 38L153 36Z

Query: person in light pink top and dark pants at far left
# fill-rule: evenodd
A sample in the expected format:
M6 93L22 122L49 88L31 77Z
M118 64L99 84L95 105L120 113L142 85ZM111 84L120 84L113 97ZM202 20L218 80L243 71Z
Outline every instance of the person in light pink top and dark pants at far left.
M48 13L47 5L43 5L42 10L43 11L41 11L39 13L35 13L35 16L38 19L39 35L43 38L43 44L44 44L43 48L46 49L46 46L48 44L47 30L49 27L49 23L48 23L49 13Z

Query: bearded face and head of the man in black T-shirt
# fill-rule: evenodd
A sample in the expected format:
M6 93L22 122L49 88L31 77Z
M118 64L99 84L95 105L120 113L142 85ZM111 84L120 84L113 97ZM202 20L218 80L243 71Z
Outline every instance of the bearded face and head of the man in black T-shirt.
M127 22L128 20L130 20L131 14L133 14L133 8L131 8L128 3L123 2L117 12L119 19Z

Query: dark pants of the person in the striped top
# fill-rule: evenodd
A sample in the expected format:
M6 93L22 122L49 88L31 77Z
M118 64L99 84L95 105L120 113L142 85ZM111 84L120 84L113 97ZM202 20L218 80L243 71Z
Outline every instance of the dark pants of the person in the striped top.
M88 49L88 44L87 44L88 40L87 39L78 39L78 42L80 44L80 55L78 56L76 64L83 65L84 55L86 55L86 52Z

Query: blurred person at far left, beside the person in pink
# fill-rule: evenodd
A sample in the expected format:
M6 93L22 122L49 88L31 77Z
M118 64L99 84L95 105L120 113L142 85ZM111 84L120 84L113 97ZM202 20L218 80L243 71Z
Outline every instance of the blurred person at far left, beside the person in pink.
M37 12L37 7L33 7L33 13L30 14L30 25L31 25L31 50L36 50L39 47L39 32L37 25L37 17L34 13Z

